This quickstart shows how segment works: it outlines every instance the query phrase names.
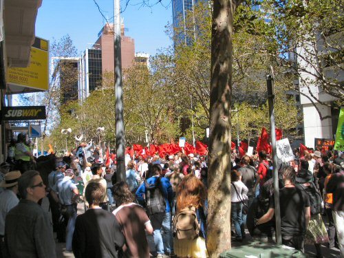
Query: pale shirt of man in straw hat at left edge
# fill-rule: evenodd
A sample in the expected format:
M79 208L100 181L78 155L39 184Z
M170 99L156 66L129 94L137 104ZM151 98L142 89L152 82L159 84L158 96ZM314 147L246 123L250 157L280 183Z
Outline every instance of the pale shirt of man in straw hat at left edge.
M0 235L5 235L5 219L7 213L17 206L19 199L12 191L6 189L0 194Z

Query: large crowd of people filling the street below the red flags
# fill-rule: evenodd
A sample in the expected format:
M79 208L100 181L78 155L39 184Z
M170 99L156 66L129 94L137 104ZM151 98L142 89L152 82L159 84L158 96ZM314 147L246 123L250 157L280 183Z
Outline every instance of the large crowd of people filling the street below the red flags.
M314 244L316 257L323 257L321 245L327 244L343 256L344 153L294 154L293 162L278 167L282 242L301 252L305 243ZM53 233L65 242L65 255L75 257L208 257L207 157L127 154L125 163L126 180L117 182L114 153L103 155L89 142L54 158L47 182L41 171L1 164L1 257L56 257ZM246 228L254 239L276 241L269 155L239 157L233 151L232 163L233 241L243 241ZM41 208L43 197L51 217ZM80 215L78 202L85 206Z

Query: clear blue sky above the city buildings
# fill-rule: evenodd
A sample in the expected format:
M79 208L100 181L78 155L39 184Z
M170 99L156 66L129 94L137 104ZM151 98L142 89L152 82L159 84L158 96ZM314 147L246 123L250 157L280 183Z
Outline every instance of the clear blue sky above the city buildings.
M96 2L104 16L112 22L114 0ZM120 1L122 10L126 2ZM162 0L162 4L157 3L151 8L142 7L141 3L142 0L130 0L120 15L127 28L125 35L135 40L135 52L154 55L171 45L165 33L165 26L172 23L171 0ZM36 36L52 43L69 34L78 54L81 54L96 42L98 32L105 23L94 0L43 0L36 18Z

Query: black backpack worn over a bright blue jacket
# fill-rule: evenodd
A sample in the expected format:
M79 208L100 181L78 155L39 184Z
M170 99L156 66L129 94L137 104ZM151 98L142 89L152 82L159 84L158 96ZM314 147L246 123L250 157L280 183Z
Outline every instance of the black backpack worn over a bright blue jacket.
M144 180L144 187L146 188L147 214L150 216L155 213L164 213L166 201L162 194L161 178L159 177L155 184L148 184L147 180Z

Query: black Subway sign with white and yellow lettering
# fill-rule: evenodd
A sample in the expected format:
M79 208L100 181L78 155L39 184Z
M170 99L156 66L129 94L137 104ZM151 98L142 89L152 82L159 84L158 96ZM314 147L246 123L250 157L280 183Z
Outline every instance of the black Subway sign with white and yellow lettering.
M45 119L45 106L1 107L1 120L42 120Z

